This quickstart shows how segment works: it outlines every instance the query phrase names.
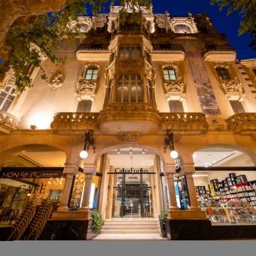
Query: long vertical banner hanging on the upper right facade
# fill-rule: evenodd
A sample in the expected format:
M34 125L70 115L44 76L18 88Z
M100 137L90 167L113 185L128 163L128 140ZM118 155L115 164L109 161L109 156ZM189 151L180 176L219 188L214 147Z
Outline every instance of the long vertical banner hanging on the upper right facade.
M203 114L221 114L201 54L195 51L187 51L186 55L190 63L194 84L197 87L197 95L200 99Z

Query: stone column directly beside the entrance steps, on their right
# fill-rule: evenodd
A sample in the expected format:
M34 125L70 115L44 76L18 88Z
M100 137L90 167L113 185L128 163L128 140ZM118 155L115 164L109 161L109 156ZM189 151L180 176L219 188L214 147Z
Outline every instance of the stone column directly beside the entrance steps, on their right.
M175 165L168 165L163 167L166 172L166 180L169 190L169 200L170 206L169 211L178 211L178 206L175 197L175 188L174 188L174 180L173 175L175 174Z

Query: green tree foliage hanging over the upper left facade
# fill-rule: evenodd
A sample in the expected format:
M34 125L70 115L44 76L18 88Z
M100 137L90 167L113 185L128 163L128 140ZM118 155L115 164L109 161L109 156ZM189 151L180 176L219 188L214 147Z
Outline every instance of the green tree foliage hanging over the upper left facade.
M29 19L29 23L23 19L17 20L8 32L6 44L8 50L8 66L0 67L0 76L4 76L9 68L13 69L16 78L17 90L24 90L32 87L32 81L27 74L28 66L41 68L42 56L50 59L54 64L59 65L64 62L53 52L54 44L69 38L74 40L79 35L81 40L84 38L80 32L78 17L87 14L86 5L91 5L93 14L103 11L107 3L114 4L114 0L68 0L66 7L61 11L50 14L39 14ZM120 1L121 9L124 11L127 1ZM150 5L150 0L130 1L134 8L136 5ZM69 26L71 20L77 22L74 28ZM41 68L42 69L42 68ZM46 72L42 69L41 78L46 80Z

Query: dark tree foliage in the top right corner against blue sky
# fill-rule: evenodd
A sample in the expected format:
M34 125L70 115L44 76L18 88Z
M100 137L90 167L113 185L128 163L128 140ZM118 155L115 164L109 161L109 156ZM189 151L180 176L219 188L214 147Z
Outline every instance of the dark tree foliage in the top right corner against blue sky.
M256 37L256 0L211 0L212 5L217 4L220 10L227 8L227 15L235 11L242 17L239 35L248 32ZM256 40L251 41L250 46L256 49Z

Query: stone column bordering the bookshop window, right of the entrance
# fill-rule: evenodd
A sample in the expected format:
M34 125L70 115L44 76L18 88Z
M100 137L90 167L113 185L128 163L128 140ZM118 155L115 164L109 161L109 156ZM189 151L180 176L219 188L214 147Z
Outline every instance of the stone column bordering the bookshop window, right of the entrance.
M194 185L194 163L184 164L181 166L181 172L186 176L187 179L187 190L190 198L190 210L201 210L198 206L197 194Z

